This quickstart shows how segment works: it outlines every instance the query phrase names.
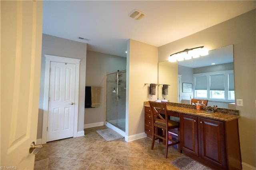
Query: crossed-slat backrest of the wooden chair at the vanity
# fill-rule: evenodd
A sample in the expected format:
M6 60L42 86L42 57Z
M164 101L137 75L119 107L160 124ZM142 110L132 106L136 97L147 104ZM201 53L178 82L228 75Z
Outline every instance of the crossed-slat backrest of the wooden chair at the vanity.
M153 102L153 101L148 101L148 102L150 105L153 123L155 124L155 122L158 121L165 126L168 125L166 103ZM163 117L160 113L164 114L165 117Z

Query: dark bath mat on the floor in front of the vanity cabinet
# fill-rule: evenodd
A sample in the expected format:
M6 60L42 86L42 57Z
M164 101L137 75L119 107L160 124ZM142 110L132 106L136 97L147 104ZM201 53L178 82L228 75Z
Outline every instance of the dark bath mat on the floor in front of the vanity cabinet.
M182 156L172 162L174 166L177 166L181 170L211 170L210 168L186 157Z

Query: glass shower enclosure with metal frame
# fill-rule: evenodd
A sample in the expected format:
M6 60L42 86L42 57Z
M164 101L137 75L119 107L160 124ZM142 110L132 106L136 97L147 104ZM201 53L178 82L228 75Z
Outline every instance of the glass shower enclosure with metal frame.
M106 121L125 131L126 70L107 75Z

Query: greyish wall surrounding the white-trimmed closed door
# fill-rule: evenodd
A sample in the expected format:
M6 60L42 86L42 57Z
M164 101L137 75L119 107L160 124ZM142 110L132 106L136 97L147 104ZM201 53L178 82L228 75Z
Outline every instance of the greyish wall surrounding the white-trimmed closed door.
M87 44L43 34L37 138L42 138L45 54L81 59L79 77L78 131L84 130L84 93Z

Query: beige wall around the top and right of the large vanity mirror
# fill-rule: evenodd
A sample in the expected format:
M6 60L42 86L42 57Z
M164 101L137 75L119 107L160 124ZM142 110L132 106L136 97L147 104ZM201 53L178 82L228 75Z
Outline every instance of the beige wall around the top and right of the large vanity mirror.
M158 61L176 51L204 45L208 49L234 44L236 99L243 99L239 133L242 162L256 167L256 10L158 48ZM173 91L177 89L173 88Z

